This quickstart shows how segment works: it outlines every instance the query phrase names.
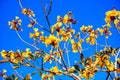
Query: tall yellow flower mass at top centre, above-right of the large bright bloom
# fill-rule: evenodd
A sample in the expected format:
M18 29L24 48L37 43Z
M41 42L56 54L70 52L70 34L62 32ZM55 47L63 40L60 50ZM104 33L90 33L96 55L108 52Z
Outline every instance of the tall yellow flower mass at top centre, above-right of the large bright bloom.
M62 36L62 41L68 41L71 35L75 33L75 30L70 28L70 24L73 24L75 20L72 18L72 12L66 14L63 18L57 16L57 22L51 27L51 32L56 33L57 36ZM64 25L66 28L64 28Z

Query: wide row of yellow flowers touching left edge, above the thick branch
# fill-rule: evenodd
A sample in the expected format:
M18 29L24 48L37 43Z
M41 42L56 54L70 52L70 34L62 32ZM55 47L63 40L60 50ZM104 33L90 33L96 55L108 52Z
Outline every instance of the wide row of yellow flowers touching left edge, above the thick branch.
M23 60L25 58L28 59L28 60L32 59L32 52L30 51L29 48L26 48L26 51L22 51L22 52L19 52L19 51L16 51L16 52L9 51L9 52L7 52L5 50L2 50L0 52L0 54L5 60L9 60L10 62L15 63L15 64L18 64L18 62L20 62L20 64L22 64Z

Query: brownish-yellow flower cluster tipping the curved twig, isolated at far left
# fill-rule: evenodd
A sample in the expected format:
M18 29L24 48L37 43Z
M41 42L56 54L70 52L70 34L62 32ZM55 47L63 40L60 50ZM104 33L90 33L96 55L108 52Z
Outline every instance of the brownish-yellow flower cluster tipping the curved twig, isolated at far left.
M13 20L12 22L8 21L8 25L10 26L10 28L13 28L16 31L21 29L21 23L22 20L20 20L18 16L16 16L15 20Z

